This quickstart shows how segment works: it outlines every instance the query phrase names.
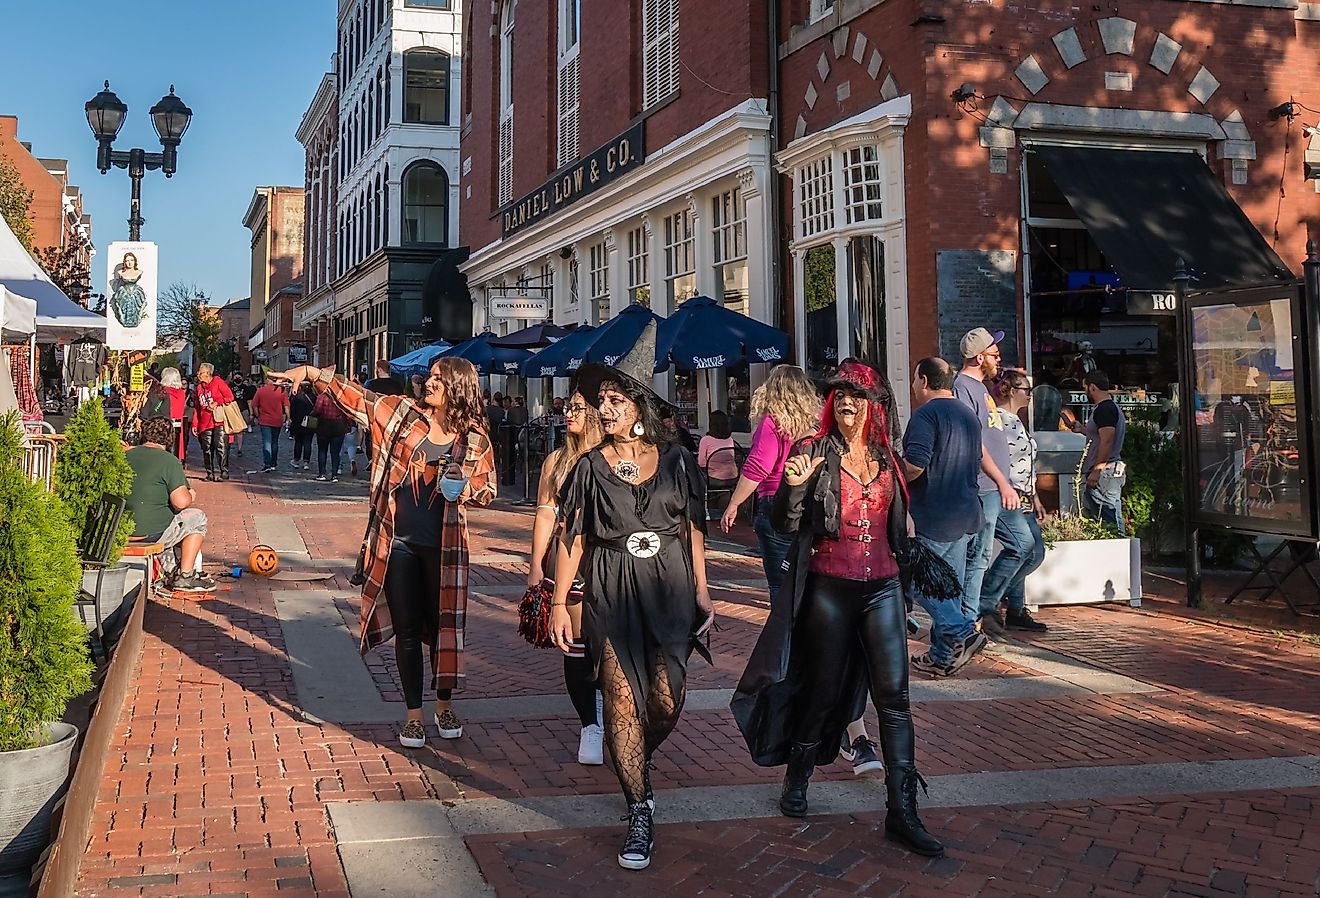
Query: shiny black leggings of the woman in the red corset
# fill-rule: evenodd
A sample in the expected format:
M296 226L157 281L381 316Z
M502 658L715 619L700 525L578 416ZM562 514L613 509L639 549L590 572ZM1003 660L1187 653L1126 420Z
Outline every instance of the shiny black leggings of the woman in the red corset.
M830 712L851 685L843 683L847 652L840 647L858 639L871 701L880 714L884 766L911 767L915 740L908 704L907 605L899 578L862 582L809 574L793 635L801 656L809 659L810 677L810 704L797 718L793 741L816 743L822 738Z

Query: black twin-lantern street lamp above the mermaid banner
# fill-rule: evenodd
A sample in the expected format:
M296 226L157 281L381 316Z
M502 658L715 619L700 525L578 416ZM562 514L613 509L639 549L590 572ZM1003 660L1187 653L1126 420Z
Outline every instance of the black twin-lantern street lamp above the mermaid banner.
M128 116L128 106L110 90L106 82L104 90L98 92L83 107L87 112L87 124L96 137L96 168L104 174L114 168L128 169L128 177L133 184L132 199L129 203L131 215L128 218L128 239L143 239L141 214L143 205L143 176L147 172L161 169L165 177L174 174L178 166L178 143L187 131L187 124L193 120L193 110L183 106L183 100L174 96L174 85L169 86L169 94L162 96L150 108L152 127L161 139L162 151L148 153L135 147L129 151L111 149L119 129L124 127Z

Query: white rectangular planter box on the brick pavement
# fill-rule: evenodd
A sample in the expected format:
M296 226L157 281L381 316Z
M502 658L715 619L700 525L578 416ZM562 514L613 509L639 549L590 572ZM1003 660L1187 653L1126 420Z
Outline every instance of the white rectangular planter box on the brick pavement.
M1027 606L1142 604L1142 541L1096 539L1055 543L1027 577Z

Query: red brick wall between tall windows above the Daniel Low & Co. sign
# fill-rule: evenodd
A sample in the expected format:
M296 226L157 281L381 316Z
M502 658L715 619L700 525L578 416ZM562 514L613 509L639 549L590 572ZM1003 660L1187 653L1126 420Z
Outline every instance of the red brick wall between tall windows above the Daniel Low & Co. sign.
M513 198L540 186L556 169L554 3L520 3L515 20ZM755 0L681 0L680 91L647 116L647 152L673 141L751 96L768 94L766 4ZM589 153L627 129L642 106L640 0L582 0L578 147ZM469 58L463 61L471 127L462 156L462 234L483 247L500 236L496 213L499 161L499 16L473 4L465 16ZM700 79L698 79L700 78ZM702 83L705 82L705 83ZM465 110L465 115L466 115ZM467 197L467 186L473 195Z

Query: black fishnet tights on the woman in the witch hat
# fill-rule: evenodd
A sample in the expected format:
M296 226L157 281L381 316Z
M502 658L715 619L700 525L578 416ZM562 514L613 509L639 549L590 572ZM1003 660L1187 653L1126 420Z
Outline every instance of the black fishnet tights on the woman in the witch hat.
M686 697L684 685L677 692L669 681L669 668L664 654L656 651L651 659L651 695L647 700L645 720L638 716L638 703L632 696L619 656L609 642L601 652L601 695L605 710L605 738L614 758L614 773L628 804L644 802L647 796L647 763L656 749L678 724L678 712Z

